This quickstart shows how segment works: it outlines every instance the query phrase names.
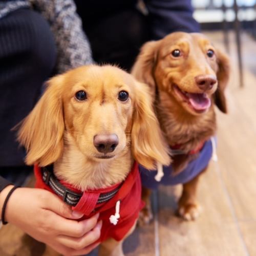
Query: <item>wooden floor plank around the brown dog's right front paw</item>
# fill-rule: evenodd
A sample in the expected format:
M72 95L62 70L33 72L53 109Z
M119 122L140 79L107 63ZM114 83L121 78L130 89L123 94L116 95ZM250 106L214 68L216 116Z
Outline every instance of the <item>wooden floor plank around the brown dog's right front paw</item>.
M199 185L203 213L197 221L185 222L174 215L180 190L179 186L161 187L159 191L160 255L246 255L236 219L213 164Z

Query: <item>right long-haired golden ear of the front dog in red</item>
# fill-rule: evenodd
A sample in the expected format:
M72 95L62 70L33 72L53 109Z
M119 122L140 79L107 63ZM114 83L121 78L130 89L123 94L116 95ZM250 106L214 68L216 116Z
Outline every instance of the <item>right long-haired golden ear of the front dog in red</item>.
M131 136L133 156L147 169L156 169L157 162L168 165L168 146L161 133L153 109L153 99L146 84L136 82L135 97Z

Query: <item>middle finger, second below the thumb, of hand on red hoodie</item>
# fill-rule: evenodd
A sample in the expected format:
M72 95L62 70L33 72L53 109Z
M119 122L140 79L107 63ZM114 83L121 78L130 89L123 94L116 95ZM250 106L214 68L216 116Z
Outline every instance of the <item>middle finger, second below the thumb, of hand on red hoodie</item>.
M57 241L69 248L73 248L76 250L82 250L83 248L95 243L100 237L100 229L102 226L102 221L99 221L93 230L84 234L84 236L80 238L68 237L68 236L58 236Z

